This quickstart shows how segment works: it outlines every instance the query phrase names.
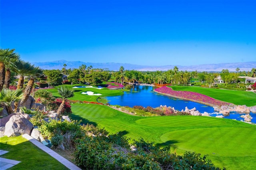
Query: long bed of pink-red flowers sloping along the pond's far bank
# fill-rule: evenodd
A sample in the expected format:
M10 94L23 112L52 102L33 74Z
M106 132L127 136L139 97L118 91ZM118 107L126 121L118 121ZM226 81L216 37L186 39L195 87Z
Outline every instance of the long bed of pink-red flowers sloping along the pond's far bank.
M173 97L181 98L181 99L186 99L190 101L195 101L198 103L204 103L206 105L211 105L211 106L222 106L222 105L230 105L230 103L226 103L224 101L219 101L216 100L212 97L208 97L206 95L202 95L200 93L195 93L191 91L174 91L170 87L160 87L158 89L155 89L156 92L158 93L164 93Z

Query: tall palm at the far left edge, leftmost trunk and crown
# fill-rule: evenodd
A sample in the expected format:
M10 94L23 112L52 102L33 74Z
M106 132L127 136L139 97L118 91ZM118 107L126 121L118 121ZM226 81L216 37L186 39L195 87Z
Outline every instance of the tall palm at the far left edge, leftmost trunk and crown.
M4 87L5 81L5 65L17 57L18 54L14 53L15 49L0 49L0 91Z

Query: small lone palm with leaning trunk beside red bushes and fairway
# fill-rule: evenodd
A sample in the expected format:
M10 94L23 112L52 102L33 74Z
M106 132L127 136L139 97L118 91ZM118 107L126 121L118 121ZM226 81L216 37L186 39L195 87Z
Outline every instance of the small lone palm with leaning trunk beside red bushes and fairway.
M74 91L72 89L69 89L68 87L62 86L58 88L58 93L62 96L62 103L60 104L60 107L57 111L57 114L60 115L62 110L64 109L66 100L74 96Z

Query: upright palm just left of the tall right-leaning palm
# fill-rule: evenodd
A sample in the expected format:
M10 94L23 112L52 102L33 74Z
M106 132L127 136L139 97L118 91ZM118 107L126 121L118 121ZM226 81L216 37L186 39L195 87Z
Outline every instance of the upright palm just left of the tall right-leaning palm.
M29 75L35 69L35 67L29 62L25 62L23 60L16 61L14 64L16 65L14 72L20 77L18 80L17 89L22 89L24 85L24 76Z

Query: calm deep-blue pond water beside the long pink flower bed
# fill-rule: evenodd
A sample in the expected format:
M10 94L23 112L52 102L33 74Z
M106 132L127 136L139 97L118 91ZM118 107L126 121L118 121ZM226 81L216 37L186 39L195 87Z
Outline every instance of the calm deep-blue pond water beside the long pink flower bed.
M177 99L174 97L165 96L153 91L154 87L151 86L140 86L140 85L133 85L130 87L130 92L124 92L123 95L120 96L111 96L106 97L108 103L110 105L120 105L120 106L151 106L151 107L159 107L160 105L166 105L170 107L174 107L176 110L181 111L185 109L187 106L188 109L192 109L196 107L200 113L208 112L214 113L213 107L203 105L200 103L186 101L182 99ZM211 116L216 116L217 114L212 114ZM219 114L221 115L221 114ZM240 118L241 113L231 112L230 116L225 118L227 119L236 119L236 120L244 120ZM250 115L254 118L252 119L253 123L256 123L256 114L250 113Z

